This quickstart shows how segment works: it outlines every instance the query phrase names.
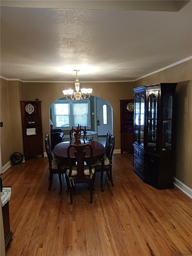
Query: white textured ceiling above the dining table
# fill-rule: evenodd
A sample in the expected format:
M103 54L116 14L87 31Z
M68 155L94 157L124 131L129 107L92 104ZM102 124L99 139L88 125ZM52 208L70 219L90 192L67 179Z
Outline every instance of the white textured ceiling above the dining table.
M1 76L134 80L192 55L192 2L178 12L1 7Z

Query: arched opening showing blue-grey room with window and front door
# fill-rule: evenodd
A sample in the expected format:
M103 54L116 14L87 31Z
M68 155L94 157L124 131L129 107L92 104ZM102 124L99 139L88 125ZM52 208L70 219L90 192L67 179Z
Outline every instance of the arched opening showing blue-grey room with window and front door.
M49 109L50 128L61 128L64 141L69 140L72 126L86 126L87 132L94 131L94 140L105 144L107 131L113 133L112 107L104 99L90 96L88 100L66 100L60 98Z

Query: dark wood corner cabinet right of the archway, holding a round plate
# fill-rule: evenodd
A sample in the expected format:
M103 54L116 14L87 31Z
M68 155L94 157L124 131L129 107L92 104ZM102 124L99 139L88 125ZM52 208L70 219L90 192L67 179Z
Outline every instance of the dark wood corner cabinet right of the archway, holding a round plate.
M120 100L121 153L133 153L133 113L134 99Z

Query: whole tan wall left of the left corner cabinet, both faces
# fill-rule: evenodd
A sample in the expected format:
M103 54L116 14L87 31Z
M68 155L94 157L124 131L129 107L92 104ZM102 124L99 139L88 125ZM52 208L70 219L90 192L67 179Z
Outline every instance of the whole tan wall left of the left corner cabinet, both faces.
M20 100L24 99L24 94L22 82L1 79L0 86L0 119L3 121L0 144L4 166L13 152L23 153Z

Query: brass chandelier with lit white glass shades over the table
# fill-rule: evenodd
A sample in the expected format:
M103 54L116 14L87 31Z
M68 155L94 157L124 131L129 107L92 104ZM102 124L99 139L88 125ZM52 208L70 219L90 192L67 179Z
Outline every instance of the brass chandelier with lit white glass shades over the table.
M77 71L79 71L79 69L74 69L74 71L76 71L76 79L75 79L75 90L76 92L73 92L73 89L69 89L69 90L63 90L63 94L65 95L67 100L74 100L76 99L77 101L79 101L80 99L84 100L84 99L89 99L90 94L92 93L91 88L82 88L81 91L79 91L79 79L77 76ZM68 98L69 97L69 98Z

